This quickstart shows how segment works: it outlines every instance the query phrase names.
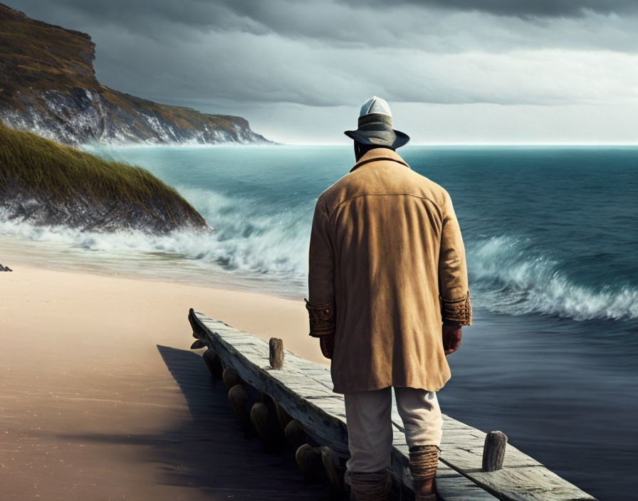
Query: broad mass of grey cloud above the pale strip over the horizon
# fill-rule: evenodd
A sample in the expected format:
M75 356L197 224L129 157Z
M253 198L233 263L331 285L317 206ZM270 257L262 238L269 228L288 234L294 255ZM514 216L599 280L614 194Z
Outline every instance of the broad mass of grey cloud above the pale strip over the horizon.
M504 18L496 14L505 1L481 0L383 7L362 1L8 1L28 16L90 33L105 85L160 102L206 102L209 111L215 103L228 109L269 102L350 106L373 94L395 102L564 105L613 99L606 88L622 96L638 84L631 69L635 18L568 17L565 7L563 17L523 19L532 2L508 2L520 15ZM573 2L580 7L570 12L582 12L588 1ZM468 11L469 4L492 10Z

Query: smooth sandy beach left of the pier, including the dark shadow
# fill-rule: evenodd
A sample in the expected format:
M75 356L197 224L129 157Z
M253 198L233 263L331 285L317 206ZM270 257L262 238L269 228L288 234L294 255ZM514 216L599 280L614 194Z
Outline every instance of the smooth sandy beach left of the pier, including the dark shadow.
M4 263L2 500L325 499L246 438L189 307L325 362L303 301Z

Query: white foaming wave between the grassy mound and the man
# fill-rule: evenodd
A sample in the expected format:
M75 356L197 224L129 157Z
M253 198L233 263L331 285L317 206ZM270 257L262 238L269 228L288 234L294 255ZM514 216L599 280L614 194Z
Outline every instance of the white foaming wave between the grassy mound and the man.
M310 221L292 211L268 215L248 200L230 199L211 191L179 189L214 228L214 232L183 230L156 235L144 231L122 230L112 233L78 231L66 226L33 226L8 221L0 211L0 235L26 241L47 243L57 257L70 253L67 260L80 260L78 266L90 262L107 267L117 264L123 272L135 267L143 270L143 263L155 261L166 265L172 260L180 265L199 265L199 273L206 266L227 272L247 275L269 275L281 280L293 279L293 287L300 290L298 277L305 277L308 268L307 250ZM311 218L311 215L308 217ZM83 251L91 251L90 253ZM72 257L71 257L72 256ZM186 272L186 270L184 270ZM142 271L143 273L143 271ZM184 278L189 277L185 273Z

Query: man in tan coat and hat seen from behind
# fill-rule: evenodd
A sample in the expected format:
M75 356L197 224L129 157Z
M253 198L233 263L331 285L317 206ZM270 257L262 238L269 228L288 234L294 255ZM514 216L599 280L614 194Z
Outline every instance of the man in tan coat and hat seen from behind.
M394 151L385 100L361 107L356 164L319 196L310 236L310 336L332 359L344 394L352 499L384 500L392 485L392 387L409 445L417 500L436 500L441 444L436 391L446 355L471 325L465 250L447 191Z

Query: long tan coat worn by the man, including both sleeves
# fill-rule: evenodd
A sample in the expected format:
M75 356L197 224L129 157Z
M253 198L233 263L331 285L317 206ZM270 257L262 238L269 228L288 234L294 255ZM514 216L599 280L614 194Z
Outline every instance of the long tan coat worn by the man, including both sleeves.
M449 194L387 148L319 196L310 236L310 335L335 333L335 393L448 381L441 322L471 325Z

